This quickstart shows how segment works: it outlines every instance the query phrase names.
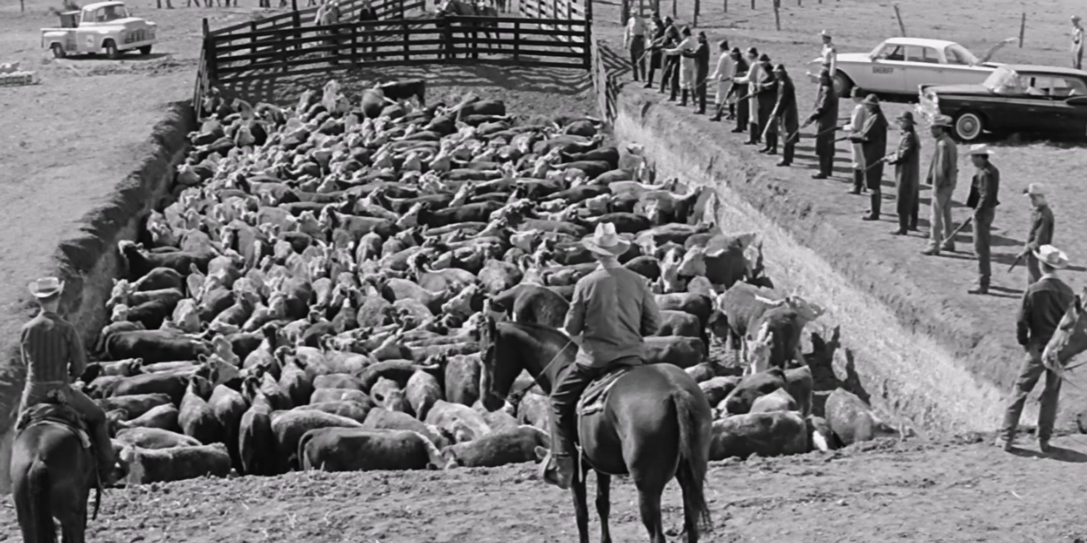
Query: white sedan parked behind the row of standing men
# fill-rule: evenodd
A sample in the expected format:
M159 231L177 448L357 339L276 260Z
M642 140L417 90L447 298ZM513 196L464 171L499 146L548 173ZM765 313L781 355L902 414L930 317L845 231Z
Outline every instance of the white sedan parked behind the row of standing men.
M1008 38L978 59L966 48L942 39L890 38L867 53L838 53L834 87L839 97L853 87L883 96L913 99L919 85L978 85L1000 64L987 62ZM819 80L823 59L808 63L808 77Z

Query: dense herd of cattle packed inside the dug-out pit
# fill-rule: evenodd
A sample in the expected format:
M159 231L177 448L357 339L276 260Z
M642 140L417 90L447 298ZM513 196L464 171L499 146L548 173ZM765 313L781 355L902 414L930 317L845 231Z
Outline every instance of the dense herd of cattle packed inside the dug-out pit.
M757 236L714 226L710 191L652 185L639 148L592 118L390 98L421 88L208 98L176 199L120 243L103 362L76 384L108 411L128 482L534 460L547 396L480 406L477 323L562 326L599 222L634 240L621 262L659 292L649 362L687 368L717 406L712 459L873 435L845 390L813 415L798 353L822 310L774 290ZM745 376L709 357L719 340Z

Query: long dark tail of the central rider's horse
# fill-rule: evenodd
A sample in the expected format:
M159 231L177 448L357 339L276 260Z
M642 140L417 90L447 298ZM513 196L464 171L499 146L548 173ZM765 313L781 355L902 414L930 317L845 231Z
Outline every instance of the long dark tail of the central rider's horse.
M701 424L696 401L696 396L686 390L679 390L672 394L679 428L679 472L677 475L680 480L686 479L691 487L690 503L684 504L684 506L692 507L698 519L709 530L712 521L710 506L705 503L704 489L705 472L710 463L710 435L700 431Z

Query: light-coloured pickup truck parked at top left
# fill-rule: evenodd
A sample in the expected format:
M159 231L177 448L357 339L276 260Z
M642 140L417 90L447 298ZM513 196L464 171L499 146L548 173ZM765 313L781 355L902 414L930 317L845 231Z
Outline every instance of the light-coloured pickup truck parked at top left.
M61 13L60 28L41 29L41 47L53 56L105 53L118 59L126 51L138 49L150 54L158 25L134 17L124 2L98 2L79 11Z

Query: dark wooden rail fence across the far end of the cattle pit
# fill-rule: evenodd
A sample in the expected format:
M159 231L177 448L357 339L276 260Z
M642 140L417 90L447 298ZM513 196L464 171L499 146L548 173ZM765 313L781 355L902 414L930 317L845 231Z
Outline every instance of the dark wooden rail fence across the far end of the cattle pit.
M192 103L215 86L270 77L422 64L592 66L592 8L579 0L526 0L509 16L446 15L425 0L340 3L341 23L317 25L316 8L212 29L203 21Z

